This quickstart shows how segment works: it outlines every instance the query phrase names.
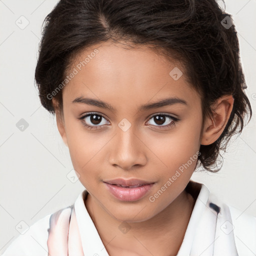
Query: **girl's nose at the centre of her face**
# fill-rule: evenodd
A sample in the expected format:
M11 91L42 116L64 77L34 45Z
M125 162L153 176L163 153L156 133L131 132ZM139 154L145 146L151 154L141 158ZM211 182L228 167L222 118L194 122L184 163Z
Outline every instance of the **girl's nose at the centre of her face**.
M145 145L142 138L135 134L133 127L116 129L110 144L109 163L121 169L132 170L146 164Z

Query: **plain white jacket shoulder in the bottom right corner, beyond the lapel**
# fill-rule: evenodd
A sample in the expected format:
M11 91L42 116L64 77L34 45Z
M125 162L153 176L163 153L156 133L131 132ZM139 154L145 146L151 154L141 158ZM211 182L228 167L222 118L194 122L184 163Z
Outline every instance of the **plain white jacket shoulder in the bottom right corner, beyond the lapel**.
M256 217L228 205L238 255L256 254Z

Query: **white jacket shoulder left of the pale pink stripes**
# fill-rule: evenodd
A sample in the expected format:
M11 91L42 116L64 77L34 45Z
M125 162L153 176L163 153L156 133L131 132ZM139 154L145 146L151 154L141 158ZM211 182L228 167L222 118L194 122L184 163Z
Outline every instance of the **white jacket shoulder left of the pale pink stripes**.
M25 233L19 234L11 242L2 256L47 256L50 221L61 216L62 211L66 208L70 208L70 206L61 208L37 220Z

